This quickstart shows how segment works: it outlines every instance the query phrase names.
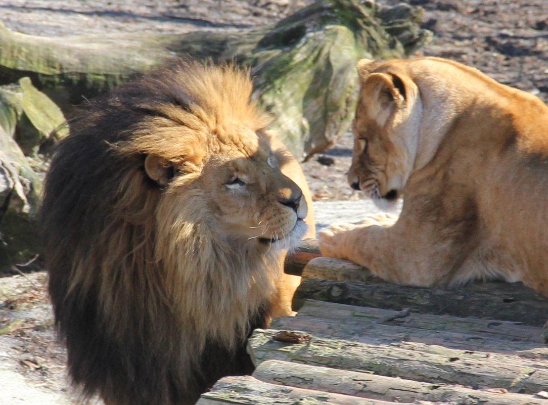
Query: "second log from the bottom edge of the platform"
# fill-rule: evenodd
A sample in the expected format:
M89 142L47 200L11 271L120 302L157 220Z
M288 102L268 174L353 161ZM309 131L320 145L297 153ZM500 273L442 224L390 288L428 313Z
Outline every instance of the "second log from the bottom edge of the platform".
M382 375L268 360L253 377L266 383L391 402L431 401L466 405L546 405L544 398L504 390L478 391Z

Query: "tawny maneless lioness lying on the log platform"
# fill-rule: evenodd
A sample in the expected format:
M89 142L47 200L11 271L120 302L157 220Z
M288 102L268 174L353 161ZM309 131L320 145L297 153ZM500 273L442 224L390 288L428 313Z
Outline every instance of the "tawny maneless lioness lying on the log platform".
M403 208L330 226L322 253L395 283L502 279L548 296L548 107L440 58L358 72L349 182L374 201L404 196Z

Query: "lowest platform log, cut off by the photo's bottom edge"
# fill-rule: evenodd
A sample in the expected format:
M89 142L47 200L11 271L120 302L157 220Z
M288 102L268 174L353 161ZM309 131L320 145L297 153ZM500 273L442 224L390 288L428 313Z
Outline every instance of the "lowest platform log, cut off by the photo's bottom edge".
M202 394L197 405L219 405L220 403L244 405L405 405L268 384L248 375L220 379L210 392ZM421 403L427 404L416 402L416 404Z

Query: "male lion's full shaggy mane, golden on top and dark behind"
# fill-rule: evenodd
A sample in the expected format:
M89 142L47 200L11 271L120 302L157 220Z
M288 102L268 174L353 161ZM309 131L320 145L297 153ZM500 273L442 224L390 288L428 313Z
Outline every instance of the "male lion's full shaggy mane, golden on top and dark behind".
M251 92L230 67L182 63L90 103L60 142L45 182L44 252L69 374L85 395L194 403L220 377L253 370L245 341L269 320L279 249L235 249L203 226L207 195L189 189L181 208L176 191L144 175L146 155L197 156L219 123L264 128ZM181 162L179 186L197 166Z

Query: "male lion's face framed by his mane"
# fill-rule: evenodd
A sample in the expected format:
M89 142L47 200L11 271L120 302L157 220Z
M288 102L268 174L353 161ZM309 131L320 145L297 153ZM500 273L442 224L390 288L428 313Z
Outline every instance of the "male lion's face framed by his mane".
M218 238L260 249L294 246L307 229L307 204L299 186L282 174L278 159L283 156L271 150L261 131L236 127L230 132L210 135L208 145L191 148L201 157L193 173L181 164L155 167L155 159L147 158L152 179L158 178L158 170L173 170L163 198L180 210L173 212L179 218L170 220L184 220L191 210L192 218Z

